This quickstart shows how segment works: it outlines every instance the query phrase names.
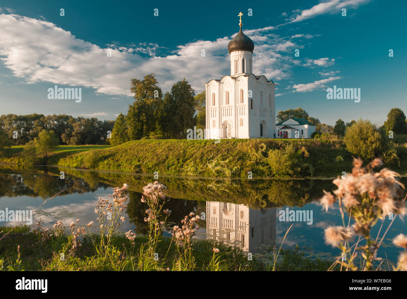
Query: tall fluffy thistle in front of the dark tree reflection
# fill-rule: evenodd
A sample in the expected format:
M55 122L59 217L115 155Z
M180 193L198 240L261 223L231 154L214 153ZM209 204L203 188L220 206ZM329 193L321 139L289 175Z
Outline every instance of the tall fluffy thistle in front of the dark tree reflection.
M147 252L150 256L153 256L157 249L159 237L164 230L164 224L171 213L168 209L164 210L164 204L168 202L164 195L165 189L167 187L157 181L148 183L147 186L143 187L141 202L147 203L149 207L146 210L147 217L144 218L144 221L149 225L149 248Z

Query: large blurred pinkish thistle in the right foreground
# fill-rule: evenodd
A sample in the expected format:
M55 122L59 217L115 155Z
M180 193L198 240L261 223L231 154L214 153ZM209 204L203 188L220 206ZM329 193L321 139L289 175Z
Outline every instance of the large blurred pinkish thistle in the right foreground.
M342 226L329 226L325 229L325 242L337 247L342 252L342 260L336 263L346 267L346 270L358 270L354 263L354 259L358 253L363 257L364 262L361 270L372 270L373 260L380 260L376 257L377 251L383 242L389 227L379 240L377 237L372 238L370 231L372 227L382 220L382 226L386 216L398 214L402 218L407 213L404 200L395 200L403 196L405 186L397 179L398 174L395 171L387 168L375 172L375 167L380 167L382 161L375 158L368 163L366 167L362 167L361 159L353 160L352 173L346 178L336 178L333 183L338 187L333 193L324 190L324 197L321 198L321 203L326 211L335 202L338 201L339 211L342 217ZM348 223L345 223L344 211L348 214ZM350 225L350 218L354 220L354 224ZM359 240L353 245L349 245L350 239L354 235L359 235ZM365 244L360 244L364 240ZM362 242L364 243L364 242ZM352 251L353 249L353 251ZM332 267L331 267L332 268Z

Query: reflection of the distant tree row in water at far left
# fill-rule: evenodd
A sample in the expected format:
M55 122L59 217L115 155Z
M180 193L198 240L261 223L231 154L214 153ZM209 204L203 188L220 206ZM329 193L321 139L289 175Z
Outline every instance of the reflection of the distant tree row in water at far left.
M0 176L0 196L32 196L43 199L55 195L56 193L67 189L61 193L88 193L94 192L98 188L109 188L108 184L90 180L90 178L73 178L65 176L60 179L59 176L53 176L47 171L39 173L38 171L24 172L24 174L7 174Z

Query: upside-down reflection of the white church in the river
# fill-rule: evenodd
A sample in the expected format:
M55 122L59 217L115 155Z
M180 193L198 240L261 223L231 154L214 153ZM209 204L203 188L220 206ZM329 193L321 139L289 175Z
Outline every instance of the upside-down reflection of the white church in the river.
M256 210L244 204L206 202L206 238L263 253L276 244L276 208Z

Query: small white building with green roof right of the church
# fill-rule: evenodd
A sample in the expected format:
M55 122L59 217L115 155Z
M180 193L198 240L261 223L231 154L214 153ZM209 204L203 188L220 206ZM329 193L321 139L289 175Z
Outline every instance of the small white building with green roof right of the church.
M282 138L311 138L317 126L310 123L306 119L286 119L280 123L276 123L276 137L278 131L282 132ZM298 134L295 132L298 130ZM298 136L298 137L297 137Z

